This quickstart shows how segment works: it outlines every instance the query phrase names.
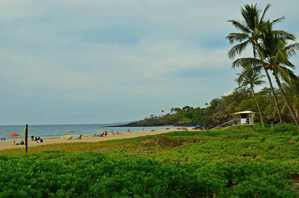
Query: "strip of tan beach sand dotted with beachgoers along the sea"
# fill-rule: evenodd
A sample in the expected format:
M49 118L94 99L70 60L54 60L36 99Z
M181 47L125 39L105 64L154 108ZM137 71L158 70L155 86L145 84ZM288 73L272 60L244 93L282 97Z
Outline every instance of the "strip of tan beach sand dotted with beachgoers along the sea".
M155 135L155 134L161 134L161 133L167 133L171 131L178 131L177 129L160 129L155 131L137 131L137 132L123 132L120 135L112 135L111 133L108 133L108 135L104 137L92 137L93 135L83 135L81 140L76 140L78 138L78 135L74 135L72 140L68 140L67 138L45 138L43 139L42 143L35 143L34 141L28 140L28 147L32 146L41 146L41 145L47 145L47 144L60 144L60 143L76 143L76 142L100 142L105 140L115 140L115 139L122 139L122 138L135 138L140 136L147 136L147 135ZM19 142L15 142L19 143ZM24 148L24 145L14 145L13 141L1 141L0 142L0 150L3 149L15 149L15 148Z

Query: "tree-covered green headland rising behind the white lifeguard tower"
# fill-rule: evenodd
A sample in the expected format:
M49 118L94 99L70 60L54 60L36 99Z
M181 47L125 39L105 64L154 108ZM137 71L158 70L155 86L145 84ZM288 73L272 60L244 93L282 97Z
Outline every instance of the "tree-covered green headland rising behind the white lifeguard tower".
M241 76L243 78L243 76ZM244 79L246 80L246 79ZM261 80L261 79L259 79ZM245 85L245 84L244 84ZM293 84L283 83L284 91L289 103L294 109L295 115L299 117L299 83L298 79L294 80ZM222 123L231 120L235 115L233 113L250 110L257 112L254 117L255 122L263 122L274 124L280 122L277 113L275 100L273 100L271 88L264 87L260 91L253 92L253 88L249 86L241 86L227 95L222 95L218 98L212 99L207 103L206 107L190 107L184 106L183 108L171 108L170 112L164 116L150 115L149 117L139 121L121 126L195 126L201 125L205 128L213 128ZM284 99L280 91L274 88L278 103L282 107L281 116L283 123L292 123L294 119L284 104ZM257 106L257 101L259 106ZM260 108L260 110L259 110Z

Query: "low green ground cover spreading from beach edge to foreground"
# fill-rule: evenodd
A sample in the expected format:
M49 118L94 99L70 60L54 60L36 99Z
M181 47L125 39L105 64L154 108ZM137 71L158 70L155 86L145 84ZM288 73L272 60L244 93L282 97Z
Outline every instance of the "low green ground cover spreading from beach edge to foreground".
M0 198L296 198L298 128L267 127L4 150Z

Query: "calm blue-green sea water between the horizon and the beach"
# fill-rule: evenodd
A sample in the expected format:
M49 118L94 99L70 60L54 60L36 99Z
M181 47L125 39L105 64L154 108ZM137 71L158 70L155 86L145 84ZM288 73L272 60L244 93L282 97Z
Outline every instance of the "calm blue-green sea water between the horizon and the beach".
M106 125L107 126L107 125ZM0 126L0 138L9 140L22 140L24 138L25 125L20 126ZM130 131L149 131L151 129L165 129L165 127L105 127L105 124L81 124L81 125L28 125L28 139L31 139L31 134L35 137L41 138L61 137L64 135L77 136L80 134L99 134L101 130L107 130L108 133L114 132L127 132ZM176 127L169 127L170 129ZM68 133L68 131L75 131L75 133ZM17 133L18 137L8 137L11 133Z

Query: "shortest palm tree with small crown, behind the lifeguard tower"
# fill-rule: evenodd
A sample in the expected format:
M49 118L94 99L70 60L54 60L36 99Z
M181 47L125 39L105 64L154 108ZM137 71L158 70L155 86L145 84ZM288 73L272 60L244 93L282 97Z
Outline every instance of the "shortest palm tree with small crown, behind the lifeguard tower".
M258 99L256 97L256 94L254 92L254 86L255 85L261 85L261 84L266 83L264 80L261 80L262 78L265 77L265 75L261 75L259 72L257 72L257 70L255 68L248 67L247 65L243 65L243 68L244 69L242 70L242 73L237 73L238 78L236 78L235 81L239 85L238 88L246 87L247 85L250 85L251 91L252 91L253 96L256 100L257 107L258 107L258 110L259 110L259 113L260 113L262 126L263 126L263 128L265 128L262 113L261 113L261 109L260 109L260 105L259 105Z

